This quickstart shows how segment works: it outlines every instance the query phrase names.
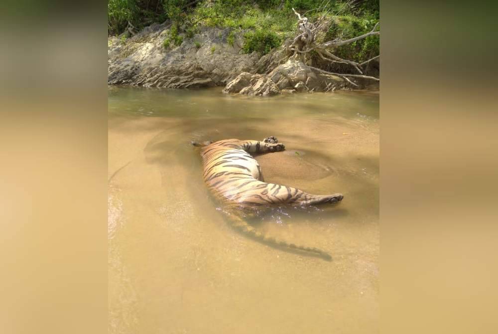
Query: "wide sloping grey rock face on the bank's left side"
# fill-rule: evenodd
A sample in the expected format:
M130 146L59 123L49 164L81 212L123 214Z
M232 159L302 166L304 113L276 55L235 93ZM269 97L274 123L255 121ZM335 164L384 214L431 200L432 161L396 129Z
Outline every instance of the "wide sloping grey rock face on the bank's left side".
M108 41L108 83L145 87L193 88L225 86L242 72L256 73L259 56L243 54L242 33L233 45L230 30L202 28L179 46L164 48L167 24L152 24L133 37Z

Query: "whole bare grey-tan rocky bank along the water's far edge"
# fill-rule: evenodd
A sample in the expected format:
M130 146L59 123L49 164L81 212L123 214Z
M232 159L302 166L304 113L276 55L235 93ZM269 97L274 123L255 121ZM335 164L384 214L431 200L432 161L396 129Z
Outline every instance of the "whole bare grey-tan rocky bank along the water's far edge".
M345 88L342 78L288 59L284 47L244 54L243 32L201 28L179 46L164 48L170 25L152 24L132 37L108 40L108 83L158 88L225 86L224 93L276 95Z

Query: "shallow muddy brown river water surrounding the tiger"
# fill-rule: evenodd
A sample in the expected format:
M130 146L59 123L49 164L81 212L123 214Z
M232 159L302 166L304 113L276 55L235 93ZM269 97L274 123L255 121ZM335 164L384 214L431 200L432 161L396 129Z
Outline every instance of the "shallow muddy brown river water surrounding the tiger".
M377 333L378 101L110 87L109 332ZM266 181L344 200L255 225L332 261L239 234L205 188L191 140L268 136Z

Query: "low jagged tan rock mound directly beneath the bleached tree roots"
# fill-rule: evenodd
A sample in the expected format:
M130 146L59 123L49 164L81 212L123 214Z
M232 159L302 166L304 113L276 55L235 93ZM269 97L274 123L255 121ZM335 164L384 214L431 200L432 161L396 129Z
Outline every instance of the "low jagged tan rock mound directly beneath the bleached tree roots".
M302 62L289 59L266 75L241 73L229 82L224 93L271 96L281 92L324 92L344 88L347 82L336 75L324 73Z

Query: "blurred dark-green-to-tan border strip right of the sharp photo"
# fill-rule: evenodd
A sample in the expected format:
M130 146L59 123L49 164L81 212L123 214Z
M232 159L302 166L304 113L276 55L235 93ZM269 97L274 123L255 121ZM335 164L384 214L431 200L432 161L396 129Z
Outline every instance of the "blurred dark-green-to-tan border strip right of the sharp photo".
M381 9L380 333L497 333L496 4Z

